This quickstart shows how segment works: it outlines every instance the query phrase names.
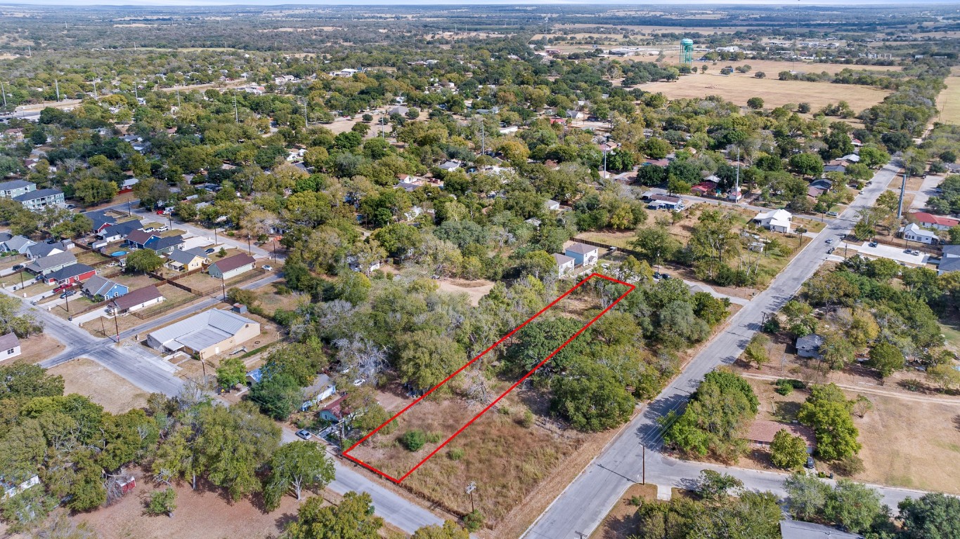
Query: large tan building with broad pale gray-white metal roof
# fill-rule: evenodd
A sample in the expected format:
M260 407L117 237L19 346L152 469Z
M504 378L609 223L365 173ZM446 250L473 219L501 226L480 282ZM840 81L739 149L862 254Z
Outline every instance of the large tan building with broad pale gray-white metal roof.
M147 336L147 344L161 352L182 351L204 360L258 335L258 322L211 309L156 330Z

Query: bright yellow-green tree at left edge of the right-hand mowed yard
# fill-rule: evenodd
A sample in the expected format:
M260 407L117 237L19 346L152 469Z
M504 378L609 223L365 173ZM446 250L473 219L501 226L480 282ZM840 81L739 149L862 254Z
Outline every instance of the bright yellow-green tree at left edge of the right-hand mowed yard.
M810 396L797 413L804 425L813 429L817 436L817 454L828 460L856 455L860 434L853 425L851 405L843 390L834 384L813 386Z

